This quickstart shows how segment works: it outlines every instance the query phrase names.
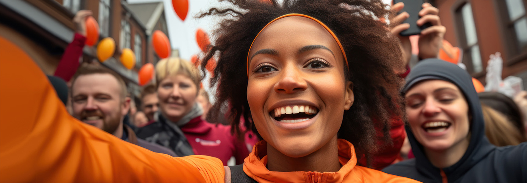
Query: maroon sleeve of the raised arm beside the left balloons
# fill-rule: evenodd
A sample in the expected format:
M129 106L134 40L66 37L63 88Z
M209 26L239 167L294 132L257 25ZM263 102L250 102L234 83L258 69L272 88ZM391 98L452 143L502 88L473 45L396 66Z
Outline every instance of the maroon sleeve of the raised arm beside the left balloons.
M82 55L85 42L85 36L75 33L73 42L66 47L61 62L57 65L55 76L62 78L66 82L70 81L73 74L79 68L79 57Z

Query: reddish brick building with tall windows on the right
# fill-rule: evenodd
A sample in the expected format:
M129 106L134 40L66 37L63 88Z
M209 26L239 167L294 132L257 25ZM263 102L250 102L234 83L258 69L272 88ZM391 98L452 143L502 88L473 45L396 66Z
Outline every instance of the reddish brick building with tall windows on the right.
M440 9L445 39L463 50L463 63L472 76L485 83L489 56L500 52L502 78L523 79L527 87L527 17L524 0L434 0Z

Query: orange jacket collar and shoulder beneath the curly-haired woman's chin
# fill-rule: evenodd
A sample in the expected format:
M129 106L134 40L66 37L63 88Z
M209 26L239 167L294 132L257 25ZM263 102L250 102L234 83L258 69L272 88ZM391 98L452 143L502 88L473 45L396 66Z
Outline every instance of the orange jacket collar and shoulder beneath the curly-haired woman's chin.
M267 169L267 142L256 143L245 159L243 171L258 182L417 182L413 179L386 174L382 171L357 166L352 143L338 139L338 160L341 168L336 172L270 171Z

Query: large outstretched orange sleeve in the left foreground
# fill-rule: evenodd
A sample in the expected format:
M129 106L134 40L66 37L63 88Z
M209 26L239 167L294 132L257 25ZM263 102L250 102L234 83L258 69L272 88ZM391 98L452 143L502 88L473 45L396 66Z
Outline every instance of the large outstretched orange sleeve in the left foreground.
M1 182L223 182L218 158L173 158L71 117L40 68L0 37Z

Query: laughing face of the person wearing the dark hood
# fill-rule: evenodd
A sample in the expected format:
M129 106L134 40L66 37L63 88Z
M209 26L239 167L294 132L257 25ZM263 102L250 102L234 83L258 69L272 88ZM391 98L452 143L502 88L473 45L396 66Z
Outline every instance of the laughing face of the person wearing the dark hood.
M406 93L412 132L425 149L443 151L469 146L469 105L456 85L443 80L415 84Z

